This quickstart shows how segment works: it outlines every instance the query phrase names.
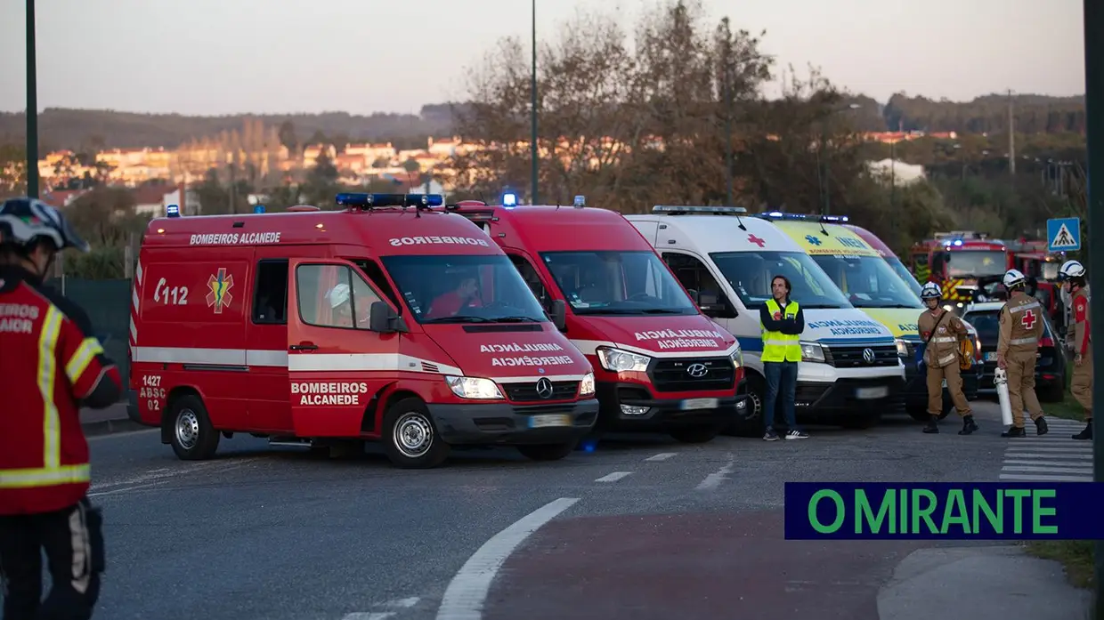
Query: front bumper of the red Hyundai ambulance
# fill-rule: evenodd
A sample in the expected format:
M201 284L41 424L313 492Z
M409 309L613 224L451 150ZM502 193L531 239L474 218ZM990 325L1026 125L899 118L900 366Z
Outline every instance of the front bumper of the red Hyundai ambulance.
M688 426L723 426L743 417L749 406L746 380L724 396L656 398L637 383L599 382L596 388L602 404L598 428L606 431L664 432ZM644 410L628 413L623 406Z

